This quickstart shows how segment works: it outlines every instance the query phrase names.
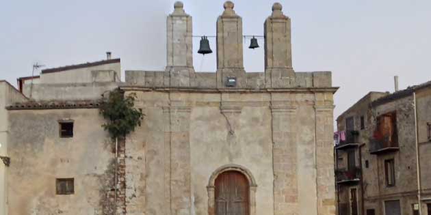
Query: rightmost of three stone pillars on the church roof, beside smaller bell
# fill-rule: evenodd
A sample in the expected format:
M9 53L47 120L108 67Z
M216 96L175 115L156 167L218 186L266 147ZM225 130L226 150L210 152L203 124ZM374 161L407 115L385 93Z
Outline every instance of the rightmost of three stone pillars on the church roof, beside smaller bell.
M292 68L291 22L274 3L272 14L265 20L265 80L266 87L289 87L295 78Z

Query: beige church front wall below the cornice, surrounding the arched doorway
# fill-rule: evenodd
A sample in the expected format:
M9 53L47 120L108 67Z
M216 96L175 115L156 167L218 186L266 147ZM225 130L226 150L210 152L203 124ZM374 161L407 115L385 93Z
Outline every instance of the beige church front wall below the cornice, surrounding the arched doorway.
M254 177L255 214L335 213L332 93L130 90L146 117L127 146L144 154L127 154L142 164L127 187L144 186L131 190L128 213L207 214L209 178L226 165Z

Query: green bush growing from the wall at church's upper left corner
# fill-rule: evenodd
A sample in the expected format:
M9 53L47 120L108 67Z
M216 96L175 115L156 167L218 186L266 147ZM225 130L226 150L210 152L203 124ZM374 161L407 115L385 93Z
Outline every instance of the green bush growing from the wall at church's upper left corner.
M142 109L135 108L135 99L135 94L125 95L125 92L118 88L110 91L108 98L103 98L100 113L107 119L107 123L102 127L113 139L125 137L133 132L136 126L141 126L144 114Z

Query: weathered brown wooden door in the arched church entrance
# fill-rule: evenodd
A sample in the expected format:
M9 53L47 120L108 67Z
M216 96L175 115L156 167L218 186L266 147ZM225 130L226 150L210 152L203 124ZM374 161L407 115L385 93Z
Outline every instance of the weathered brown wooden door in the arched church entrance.
M249 215L249 184L237 171L226 171L215 179L215 215Z

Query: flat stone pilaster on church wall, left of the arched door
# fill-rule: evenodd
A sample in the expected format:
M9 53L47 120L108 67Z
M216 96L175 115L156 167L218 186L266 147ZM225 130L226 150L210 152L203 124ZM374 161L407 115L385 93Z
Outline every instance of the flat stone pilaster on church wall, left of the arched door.
M183 102L170 104L170 205L172 215L191 210L190 112Z

